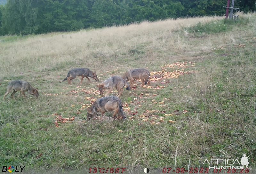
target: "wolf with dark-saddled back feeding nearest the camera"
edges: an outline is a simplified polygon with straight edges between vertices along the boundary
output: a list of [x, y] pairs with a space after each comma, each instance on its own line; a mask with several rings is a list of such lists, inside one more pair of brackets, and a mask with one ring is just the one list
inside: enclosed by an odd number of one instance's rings
[[97, 99], [91, 107], [87, 108], [87, 119], [90, 120], [93, 116], [97, 116], [99, 112], [101, 114], [105, 114], [105, 112], [111, 112], [114, 111], [113, 118], [119, 120], [120, 117], [123, 119], [126, 119], [126, 116], [124, 115], [122, 102], [121, 100], [116, 96], [108, 96], [108, 97], [102, 97], [100, 99]]

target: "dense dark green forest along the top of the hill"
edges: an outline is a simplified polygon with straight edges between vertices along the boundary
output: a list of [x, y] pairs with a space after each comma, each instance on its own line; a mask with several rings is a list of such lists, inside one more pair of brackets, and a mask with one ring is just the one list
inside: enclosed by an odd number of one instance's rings
[[[227, 0], [7, 0], [0, 5], [0, 34], [39, 34], [143, 20], [223, 15], [226, 5]], [[235, 7], [244, 12], [256, 11], [256, 0], [235, 0]]]

